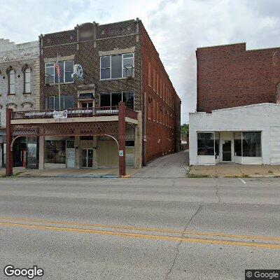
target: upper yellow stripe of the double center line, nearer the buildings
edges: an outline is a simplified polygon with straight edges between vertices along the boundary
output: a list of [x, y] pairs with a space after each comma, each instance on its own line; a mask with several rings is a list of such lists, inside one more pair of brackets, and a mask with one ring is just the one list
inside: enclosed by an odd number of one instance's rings
[[[55, 225], [76, 225], [80, 227], [92, 227], [92, 228], [112, 228], [116, 230], [137, 230], [144, 232], [162, 232], [162, 233], [174, 233], [182, 235], [183, 231], [180, 230], [165, 230], [159, 228], [137, 228], [126, 225], [101, 225], [101, 224], [90, 224], [90, 223], [74, 223], [66, 221], [48, 221], [41, 219], [29, 219], [29, 218], [11, 218], [11, 217], [0, 217], [0, 221], [10, 220], [18, 222], [33, 222], [33, 223], [49, 223]], [[229, 237], [235, 239], [256, 239], [256, 240], [266, 240], [266, 241], [280, 241], [280, 237], [262, 237], [262, 236], [253, 236], [253, 235], [228, 235], [224, 233], [214, 233], [214, 232], [191, 232], [186, 231], [185, 235], [198, 235], [198, 236], [208, 236], [208, 237]]]

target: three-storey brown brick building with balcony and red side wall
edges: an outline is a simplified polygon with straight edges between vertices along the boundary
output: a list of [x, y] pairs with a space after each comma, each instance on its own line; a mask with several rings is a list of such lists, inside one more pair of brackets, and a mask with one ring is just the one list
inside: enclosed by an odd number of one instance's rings
[[[49, 128], [49, 113], [46, 118], [40, 115], [40, 121], [36, 116], [41, 113], [13, 115], [15, 129], [24, 124], [29, 133], [28, 117], [41, 131], [37, 134], [39, 168], [118, 165], [122, 156], [118, 153], [121, 136], [116, 132], [120, 102], [126, 110], [127, 166], [141, 167], [148, 160], [179, 151], [181, 100], [141, 20], [85, 23], [41, 35], [39, 41], [41, 112], [68, 110], [63, 123], [52, 120]], [[83, 69], [83, 78], [73, 77], [77, 66]], [[82, 121], [83, 127], [77, 128]]]

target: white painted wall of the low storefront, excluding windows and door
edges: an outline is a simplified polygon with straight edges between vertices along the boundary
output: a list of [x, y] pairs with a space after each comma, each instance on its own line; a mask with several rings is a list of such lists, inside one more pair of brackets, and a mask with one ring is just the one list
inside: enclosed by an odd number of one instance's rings
[[[197, 160], [197, 132], [262, 132], [262, 158], [234, 157], [241, 164], [280, 164], [280, 104], [264, 103], [212, 113], [190, 113], [190, 165], [202, 164]], [[214, 158], [214, 157], [212, 157]], [[206, 164], [206, 163], [204, 163]], [[213, 164], [209, 160], [208, 164]]]

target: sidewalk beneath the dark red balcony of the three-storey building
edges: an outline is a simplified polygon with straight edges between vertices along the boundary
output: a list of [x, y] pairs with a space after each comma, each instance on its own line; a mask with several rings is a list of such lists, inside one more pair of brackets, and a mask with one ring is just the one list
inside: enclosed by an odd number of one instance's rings
[[[139, 169], [127, 168], [127, 175], [134, 175]], [[5, 176], [6, 170], [0, 169], [0, 178]], [[118, 168], [100, 168], [100, 169], [25, 169], [22, 167], [13, 168], [13, 176], [18, 177], [90, 177], [106, 178], [118, 177]]]

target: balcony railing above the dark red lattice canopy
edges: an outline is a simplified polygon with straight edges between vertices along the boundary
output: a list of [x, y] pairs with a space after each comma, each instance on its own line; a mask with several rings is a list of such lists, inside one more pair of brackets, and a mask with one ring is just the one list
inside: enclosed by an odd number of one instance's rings
[[[56, 110], [49, 109], [40, 111], [13, 111], [12, 120], [53, 118], [54, 111]], [[67, 109], [67, 118], [92, 116], [118, 116], [118, 106]], [[137, 120], [137, 112], [128, 108], [125, 108], [125, 116]]]

